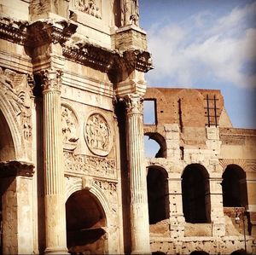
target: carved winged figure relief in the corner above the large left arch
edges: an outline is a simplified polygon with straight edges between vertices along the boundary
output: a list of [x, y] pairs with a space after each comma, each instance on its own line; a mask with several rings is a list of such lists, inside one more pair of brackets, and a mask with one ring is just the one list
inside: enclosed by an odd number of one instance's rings
[[31, 99], [32, 88], [27, 83], [26, 74], [16, 73], [0, 67], [1, 90], [8, 97], [15, 112], [15, 118], [22, 127], [23, 136], [29, 140], [32, 136]]

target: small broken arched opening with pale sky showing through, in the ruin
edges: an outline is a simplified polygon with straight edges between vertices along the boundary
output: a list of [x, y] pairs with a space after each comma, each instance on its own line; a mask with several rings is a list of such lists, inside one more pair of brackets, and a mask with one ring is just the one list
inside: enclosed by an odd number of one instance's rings
[[166, 158], [166, 140], [158, 133], [145, 133], [144, 148], [146, 158]]

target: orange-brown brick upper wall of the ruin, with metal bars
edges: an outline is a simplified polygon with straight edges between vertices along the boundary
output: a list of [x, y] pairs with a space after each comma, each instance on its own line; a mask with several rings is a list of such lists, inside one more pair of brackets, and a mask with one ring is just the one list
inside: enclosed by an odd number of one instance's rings
[[[224, 111], [220, 90], [148, 88], [145, 100], [154, 100], [156, 123], [183, 127], [219, 125]], [[228, 121], [225, 121], [226, 123]]]

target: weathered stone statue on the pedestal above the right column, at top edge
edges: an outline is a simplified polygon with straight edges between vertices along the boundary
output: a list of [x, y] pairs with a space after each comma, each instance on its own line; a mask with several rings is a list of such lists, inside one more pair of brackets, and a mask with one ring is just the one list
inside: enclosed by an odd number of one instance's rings
[[121, 0], [121, 25], [139, 26], [138, 0]]

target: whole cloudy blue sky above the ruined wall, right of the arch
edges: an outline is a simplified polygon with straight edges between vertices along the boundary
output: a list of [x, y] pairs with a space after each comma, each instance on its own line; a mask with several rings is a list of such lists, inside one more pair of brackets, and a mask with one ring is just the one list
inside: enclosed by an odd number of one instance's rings
[[220, 89], [234, 127], [256, 128], [256, 0], [140, 0], [150, 87]]

